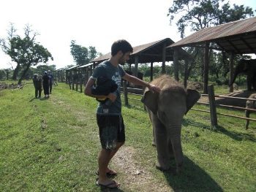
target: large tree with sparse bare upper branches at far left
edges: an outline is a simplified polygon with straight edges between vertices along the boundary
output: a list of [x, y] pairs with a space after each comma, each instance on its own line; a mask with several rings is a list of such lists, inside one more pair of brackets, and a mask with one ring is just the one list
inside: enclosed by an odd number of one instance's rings
[[[49, 58], [53, 60], [50, 52], [35, 42], [37, 33], [33, 33], [31, 27], [26, 25], [24, 28], [25, 37], [20, 37], [15, 34], [16, 29], [11, 24], [10, 31], [8, 31], [7, 41], [1, 39], [1, 47], [4, 53], [10, 56], [12, 61], [17, 64], [13, 79], [17, 79], [17, 75], [20, 69], [23, 69], [18, 84], [21, 83], [26, 73], [29, 71], [30, 66], [36, 66], [39, 63], [48, 62]], [[33, 33], [33, 34], [32, 34]], [[15, 78], [16, 77], [16, 78]]]

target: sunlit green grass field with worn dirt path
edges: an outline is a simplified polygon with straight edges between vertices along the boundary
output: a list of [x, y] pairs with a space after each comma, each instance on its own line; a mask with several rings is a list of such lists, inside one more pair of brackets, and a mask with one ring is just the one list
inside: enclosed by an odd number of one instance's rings
[[[0, 191], [101, 191], [94, 174], [96, 107], [95, 99], [64, 83], [50, 99], [34, 99], [31, 82], [0, 91]], [[245, 130], [244, 120], [219, 116], [219, 126], [211, 128], [208, 113], [189, 111], [182, 124], [184, 172], [174, 176], [154, 168], [143, 106], [133, 101], [123, 116], [127, 142], [110, 164], [121, 183], [116, 191], [256, 191], [256, 123]]]

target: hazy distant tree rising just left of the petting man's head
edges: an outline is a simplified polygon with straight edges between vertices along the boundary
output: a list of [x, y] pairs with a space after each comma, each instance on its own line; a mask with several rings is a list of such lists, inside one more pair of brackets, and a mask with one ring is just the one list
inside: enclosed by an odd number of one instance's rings
[[70, 49], [70, 53], [77, 65], [89, 64], [91, 60], [97, 58], [98, 55], [101, 55], [101, 53], [97, 53], [95, 47], [90, 46], [89, 48], [86, 48], [81, 45], [76, 45], [75, 40], [71, 41]]

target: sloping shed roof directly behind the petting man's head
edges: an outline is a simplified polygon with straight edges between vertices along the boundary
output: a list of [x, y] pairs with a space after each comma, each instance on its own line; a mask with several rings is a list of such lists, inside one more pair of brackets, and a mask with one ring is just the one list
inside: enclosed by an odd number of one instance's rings
[[[150, 42], [144, 45], [138, 45], [136, 47], [133, 47], [133, 53], [130, 55], [129, 64], [135, 63], [135, 56], [139, 56], [139, 63], [145, 64], [150, 62], [162, 62], [162, 50], [167, 47], [168, 45], [173, 44], [173, 40], [170, 38], [161, 39], [156, 42]], [[183, 52], [182, 52], [183, 51]], [[173, 53], [172, 49], [167, 50], [165, 55], [165, 61], [173, 61]], [[181, 56], [184, 56], [184, 54], [187, 54], [184, 50], [181, 50]], [[188, 54], [187, 54], [188, 56]], [[108, 60], [111, 57], [111, 53], [107, 53], [105, 55], [102, 55], [98, 58], [95, 58], [91, 62], [93, 63], [99, 63], [105, 60]]]

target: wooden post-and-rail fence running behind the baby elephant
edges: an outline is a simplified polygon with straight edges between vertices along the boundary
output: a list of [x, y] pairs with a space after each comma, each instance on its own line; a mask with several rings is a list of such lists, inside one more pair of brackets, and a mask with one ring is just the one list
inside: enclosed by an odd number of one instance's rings
[[[124, 81], [123, 87], [121, 88], [121, 92], [124, 94], [124, 104], [127, 106], [129, 105], [129, 99], [135, 100], [135, 101], [140, 101], [140, 99], [134, 99], [134, 98], [129, 98], [129, 95], [136, 95], [136, 96], [143, 96], [143, 89], [138, 89], [138, 88], [127, 88], [127, 83]], [[197, 101], [197, 104], [203, 104], [206, 106], [209, 106], [209, 110], [199, 110], [192, 108], [191, 110], [195, 111], [200, 111], [200, 112], [208, 112], [210, 113], [211, 117], [211, 126], [217, 126], [218, 125], [218, 120], [217, 120], [217, 115], [224, 115], [232, 118], [240, 118], [244, 120], [252, 120], [256, 121], [256, 119], [253, 118], [245, 118], [237, 115], [230, 115], [230, 114], [225, 114], [222, 112], [217, 112], [217, 107], [224, 107], [227, 109], [234, 109], [234, 110], [248, 110], [251, 112], [256, 112], [254, 109], [246, 109], [245, 107], [236, 107], [236, 106], [230, 106], [230, 105], [225, 105], [225, 104], [216, 104], [215, 98], [225, 98], [225, 99], [241, 99], [241, 100], [251, 100], [251, 101], [256, 101], [256, 99], [247, 99], [247, 98], [241, 98], [241, 97], [232, 97], [232, 96], [217, 96], [214, 95], [214, 85], [208, 85], [208, 94], [201, 94], [201, 96], [206, 96], [208, 97], [208, 102], [200, 102]]]

